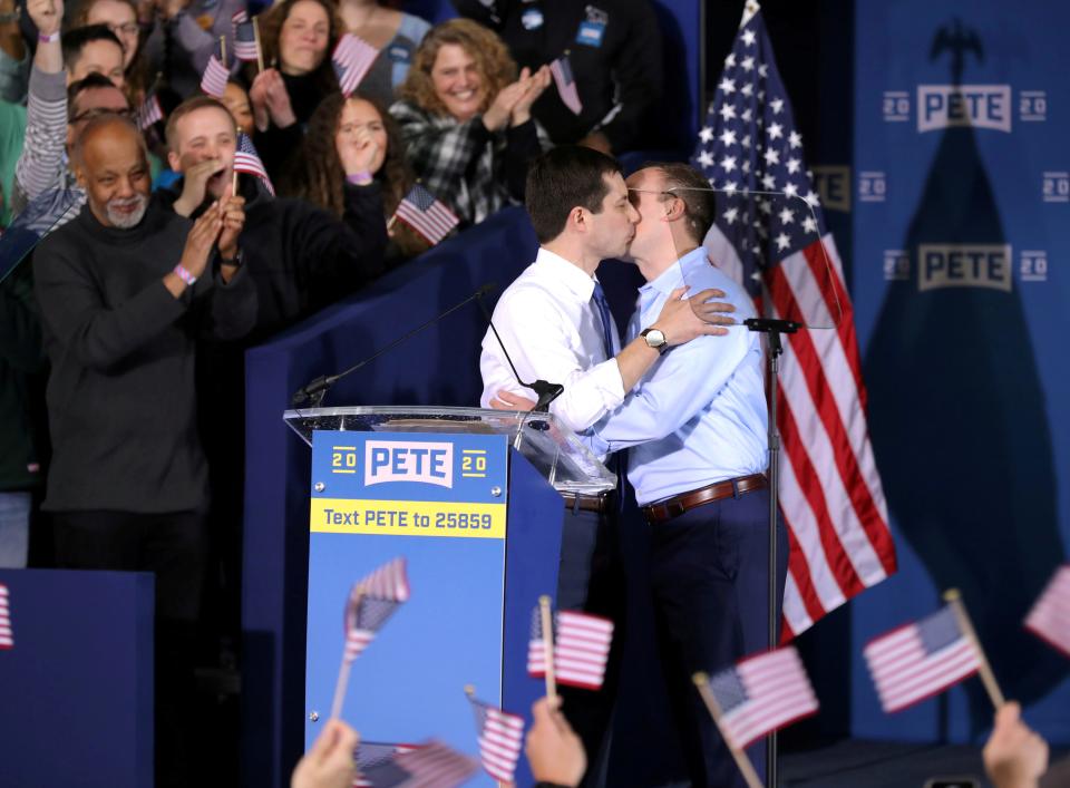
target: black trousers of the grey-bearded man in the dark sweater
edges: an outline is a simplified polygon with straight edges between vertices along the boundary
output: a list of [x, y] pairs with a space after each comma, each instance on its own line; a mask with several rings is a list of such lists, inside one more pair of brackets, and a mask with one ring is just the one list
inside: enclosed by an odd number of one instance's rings
[[52, 514], [56, 565], [156, 575], [156, 785], [193, 785], [196, 620], [204, 572], [204, 517], [196, 512]]

